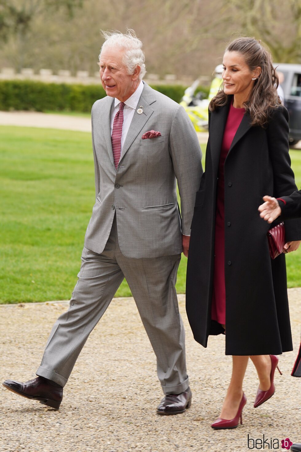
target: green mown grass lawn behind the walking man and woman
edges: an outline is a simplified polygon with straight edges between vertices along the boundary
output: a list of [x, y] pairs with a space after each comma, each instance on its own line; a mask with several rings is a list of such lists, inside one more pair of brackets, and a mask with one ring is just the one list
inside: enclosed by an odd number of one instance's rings
[[[301, 152], [291, 156], [300, 187]], [[91, 136], [0, 127], [0, 161], [0, 302], [69, 299], [95, 197]], [[301, 253], [287, 264], [289, 287], [301, 286]], [[182, 257], [180, 293], [185, 272]], [[116, 295], [130, 296], [125, 281]]]

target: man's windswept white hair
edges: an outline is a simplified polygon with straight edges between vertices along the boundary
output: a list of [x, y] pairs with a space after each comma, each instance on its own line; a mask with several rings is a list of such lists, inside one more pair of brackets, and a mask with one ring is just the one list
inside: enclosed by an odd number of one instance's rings
[[143, 43], [139, 38], [137, 38], [134, 30], [128, 29], [125, 34], [116, 31], [102, 31], [102, 36], [105, 38], [105, 42], [102, 44], [102, 48], [100, 49], [99, 58], [102, 51], [111, 47], [117, 47], [121, 50], [125, 50], [122, 62], [125, 65], [128, 74], [134, 74], [136, 67], [140, 66], [141, 71], [139, 79], [142, 80], [146, 73], [144, 64], [145, 57], [144, 52], [142, 51]]

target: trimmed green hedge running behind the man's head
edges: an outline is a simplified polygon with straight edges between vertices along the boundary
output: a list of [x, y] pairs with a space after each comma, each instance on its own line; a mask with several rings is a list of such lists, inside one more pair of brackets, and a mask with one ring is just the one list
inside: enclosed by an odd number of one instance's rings
[[[181, 85], [153, 85], [152, 88], [175, 102], [180, 102], [185, 90]], [[206, 92], [207, 89], [202, 91]], [[90, 112], [94, 102], [105, 95], [101, 85], [2, 80], [0, 81], [0, 110]]]

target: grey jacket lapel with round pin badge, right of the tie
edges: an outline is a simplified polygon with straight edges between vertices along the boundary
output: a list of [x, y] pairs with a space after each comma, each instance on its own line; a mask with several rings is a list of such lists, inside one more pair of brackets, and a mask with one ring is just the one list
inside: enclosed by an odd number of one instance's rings
[[148, 118], [150, 118], [150, 116], [152, 115], [153, 108], [150, 106], [150, 104], [153, 104], [153, 102], [155, 101], [156, 99], [153, 96], [152, 89], [146, 83], [144, 83], [144, 89], [137, 106], [137, 108], [139, 108], [139, 106], [142, 105], [143, 113], [137, 113], [136, 108], [133, 119], [130, 123], [129, 131], [125, 138], [125, 143], [122, 147], [120, 160], [123, 159], [125, 153], [129, 150], [134, 139], [137, 137], [142, 127], [144, 127], [144, 124], [148, 121]]

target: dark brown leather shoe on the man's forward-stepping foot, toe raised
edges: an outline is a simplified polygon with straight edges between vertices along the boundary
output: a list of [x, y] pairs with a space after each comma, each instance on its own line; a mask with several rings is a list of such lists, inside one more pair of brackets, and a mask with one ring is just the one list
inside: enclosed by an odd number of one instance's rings
[[63, 400], [62, 386], [43, 377], [37, 377], [25, 383], [5, 380], [2, 384], [9, 391], [27, 397], [28, 399], [39, 400], [43, 405], [51, 406], [52, 408], [56, 408], [56, 410], [60, 408], [60, 402]]

